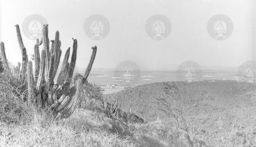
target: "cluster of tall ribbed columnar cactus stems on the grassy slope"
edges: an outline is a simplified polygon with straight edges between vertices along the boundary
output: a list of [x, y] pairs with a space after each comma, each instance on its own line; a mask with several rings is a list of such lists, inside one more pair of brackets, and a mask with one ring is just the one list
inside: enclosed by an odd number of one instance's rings
[[[48, 25], [43, 27], [42, 39], [36, 40], [34, 47], [35, 72], [33, 64], [28, 60], [28, 54], [22, 41], [19, 25], [15, 25], [22, 62], [18, 63], [13, 70], [10, 69], [6, 59], [4, 43], [1, 42], [0, 59], [3, 63], [4, 72], [10, 76], [10, 84], [15, 88], [17, 94], [22, 95], [22, 101], [33, 103], [39, 108], [51, 109], [56, 118], [67, 118], [76, 109], [81, 84], [86, 82], [92, 69], [92, 64], [97, 52], [97, 46], [93, 46], [92, 57], [81, 80], [72, 80], [76, 65], [77, 40], [73, 39], [72, 56], [70, 48], [65, 53], [65, 57], [60, 66], [60, 74], [57, 74], [61, 58], [60, 32], [56, 31], [55, 39], [50, 41], [48, 38]], [[42, 52], [40, 53], [40, 46]], [[55, 81], [54, 81], [55, 80]], [[24, 96], [23, 94], [26, 94]]]

